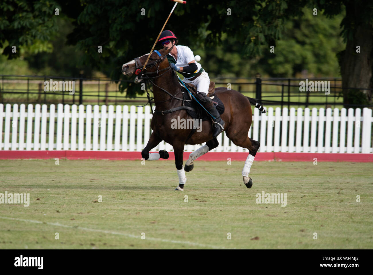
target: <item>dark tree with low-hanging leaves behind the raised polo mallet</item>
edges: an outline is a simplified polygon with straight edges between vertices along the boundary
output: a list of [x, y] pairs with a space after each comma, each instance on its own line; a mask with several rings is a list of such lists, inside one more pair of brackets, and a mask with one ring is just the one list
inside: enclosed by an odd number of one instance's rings
[[[284, 22], [301, 14], [307, 1], [208, 1], [197, 0], [176, 7], [166, 29], [178, 34], [190, 46], [215, 48], [222, 45], [222, 36], [239, 41], [238, 53], [255, 56], [261, 46], [274, 44], [280, 38]], [[62, 9], [69, 17], [75, 8]], [[78, 8], [79, 3], [76, 4]], [[99, 1], [84, 3], [83, 11], [74, 22], [75, 29], [68, 42], [84, 50], [82, 59], [118, 79], [121, 65], [148, 52], [169, 14], [169, 1]], [[201, 35], [204, 34], [204, 35]], [[194, 45], [193, 45], [194, 44]], [[97, 47], [103, 52], [98, 53]], [[123, 76], [122, 76], [123, 77]], [[134, 95], [132, 83], [121, 83], [128, 95]]]

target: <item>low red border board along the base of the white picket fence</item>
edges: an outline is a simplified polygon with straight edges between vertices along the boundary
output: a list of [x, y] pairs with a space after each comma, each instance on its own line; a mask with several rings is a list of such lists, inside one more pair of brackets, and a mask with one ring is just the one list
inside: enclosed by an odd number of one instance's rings
[[[170, 152], [168, 160], [175, 160], [173, 152]], [[184, 160], [187, 160], [190, 152], [184, 152]], [[198, 160], [216, 161], [231, 160], [245, 161], [247, 152], [209, 152]], [[0, 159], [50, 159], [67, 158], [69, 160], [96, 159], [96, 160], [140, 160], [141, 152], [122, 151], [0, 151]], [[373, 162], [373, 154], [347, 154], [347, 153], [289, 153], [289, 152], [258, 152], [256, 161], [349, 161], [349, 162]], [[161, 159], [162, 160], [162, 159]]]

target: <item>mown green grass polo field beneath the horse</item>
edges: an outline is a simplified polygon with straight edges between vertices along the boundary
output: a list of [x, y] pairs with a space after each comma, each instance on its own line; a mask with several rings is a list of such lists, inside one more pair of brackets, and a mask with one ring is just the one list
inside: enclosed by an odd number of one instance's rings
[[254, 162], [251, 189], [243, 164], [197, 160], [181, 192], [173, 161], [0, 160], [0, 193], [30, 194], [0, 204], [0, 248], [373, 248], [371, 163]]

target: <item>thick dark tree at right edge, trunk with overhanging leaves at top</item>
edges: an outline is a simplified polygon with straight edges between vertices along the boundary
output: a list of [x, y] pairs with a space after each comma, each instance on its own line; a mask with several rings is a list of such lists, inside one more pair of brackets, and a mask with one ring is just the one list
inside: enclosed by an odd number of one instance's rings
[[341, 22], [346, 48], [339, 53], [344, 104], [372, 104], [373, 89], [373, 2], [364, 0], [318, 0], [317, 6], [328, 16], [335, 16], [345, 7]]

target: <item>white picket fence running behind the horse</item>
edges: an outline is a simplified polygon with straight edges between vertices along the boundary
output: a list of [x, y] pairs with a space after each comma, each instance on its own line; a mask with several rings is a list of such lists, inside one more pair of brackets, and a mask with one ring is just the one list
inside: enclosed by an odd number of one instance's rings
[[[141, 151], [152, 130], [149, 106], [0, 104], [0, 150]], [[34, 109], [35, 108], [35, 109]], [[260, 152], [372, 153], [372, 109], [254, 108], [248, 136]], [[215, 152], [247, 152], [225, 132]], [[204, 143], [203, 143], [204, 144]], [[194, 151], [201, 145], [185, 145]], [[172, 151], [161, 142], [153, 151]], [[0, 152], [1, 154], [1, 152]]]

